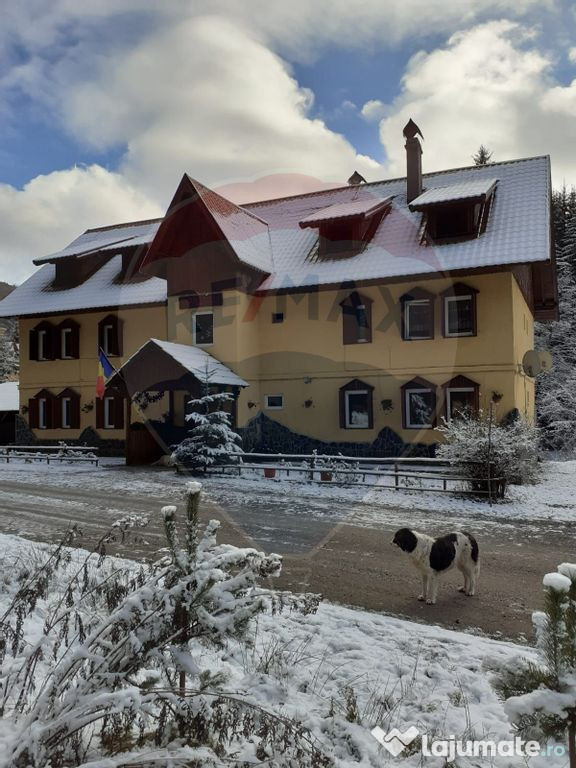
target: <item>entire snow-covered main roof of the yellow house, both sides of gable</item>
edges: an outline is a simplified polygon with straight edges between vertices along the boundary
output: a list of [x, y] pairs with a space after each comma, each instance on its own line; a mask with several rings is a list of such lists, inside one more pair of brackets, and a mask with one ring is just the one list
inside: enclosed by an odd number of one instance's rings
[[[411, 210], [408, 205], [406, 179], [238, 206], [199, 182], [185, 178], [239, 260], [265, 273], [259, 286], [261, 291], [339, 285], [347, 281], [384, 281], [550, 259], [550, 159], [547, 156], [425, 174], [425, 191], [416, 199], [420, 205], [422, 199], [426, 205], [486, 195], [497, 181], [485, 231], [470, 240], [438, 245], [421, 241], [422, 213]], [[381, 205], [389, 198], [386, 204], [390, 212], [360, 253], [345, 258], [313, 257], [318, 231], [301, 227], [301, 222], [358, 215], [360, 211], [364, 215], [371, 210], [366, 206]], [[412, 206], [416, 201], [412, 201]], [[137, 222], [89, 231], [49, 258], [145, 245], [154, 239], [159, 225], [158, 221]], [[39, 260], [42, 261], [45, 259]], [[163, 280], [116, 283], [119, 271], [119, 257], [114, 257], [84, 284], [56, 291], [50, 289], [54, 265], [46, 264], [0, 302], [0, 317], [165, 301]]]

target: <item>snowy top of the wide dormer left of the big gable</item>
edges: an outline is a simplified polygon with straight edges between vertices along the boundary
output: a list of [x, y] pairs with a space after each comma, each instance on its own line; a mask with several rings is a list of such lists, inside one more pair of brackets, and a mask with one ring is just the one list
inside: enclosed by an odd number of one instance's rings
[[117, 227], [88, 229], [61, 251], [43, 256], [41, 259], [34, 259], [34, 264], [59, 261], [67, 256], [88, 256], [99, 251], [145, 245], [152, 240], [161, 221], [162, 219], [136, 221], [133, 224], [119, 224]]

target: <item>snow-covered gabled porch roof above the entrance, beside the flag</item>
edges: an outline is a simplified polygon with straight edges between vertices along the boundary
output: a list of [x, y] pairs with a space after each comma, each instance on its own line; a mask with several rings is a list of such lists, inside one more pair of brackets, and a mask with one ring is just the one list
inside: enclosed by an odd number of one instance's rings
[[179, 389], [193, 376], [210, 384], [247, 387], [248, 383], [205, 349], [171, 341], [149, 339], [110, 378], [109, 385], [124, 383], [128, 393]]

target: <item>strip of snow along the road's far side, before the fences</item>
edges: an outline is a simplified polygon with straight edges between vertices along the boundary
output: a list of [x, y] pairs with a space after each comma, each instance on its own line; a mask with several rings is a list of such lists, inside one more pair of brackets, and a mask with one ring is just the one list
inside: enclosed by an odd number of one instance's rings
[[[336, 522], [354, 514], [355, 525], [378, 527], [386, 521], [386, 508], [412, 510], [423, 520], [429, 515], [500, 522], [573, 522], [576, 520], [576, 461], [543, 462], [543, 479], [538, 485], [511, 486], [505, 501], [479, 501], [449, 493], [394, 490], [389, 487], [340, 486], [332, 483], [306, 482], [281, 478], [265, 479], [261, 470], [242, 478], [213, 475], [203, 479], [206, 498], [223, 507], [234, 507], [251, 497], [264, 497], [290, 503], [311, 514], [324, 516], [329, 510]], [[0, 464], [0, 482], [34, 483], [47, 486], [84, 489], [103, 487], [111, 492], [126, 492], [170, 498], [181, 493], [184, 478], [173, 470], [158, 467], [123, 466], [122, 459], [103, 459], [100, 467], [86, 464], [46, 465], [12, 462]], [[389, 483], [390, 479], [379, 482]], [[411, 517], [412, 524], [414, 519]]]

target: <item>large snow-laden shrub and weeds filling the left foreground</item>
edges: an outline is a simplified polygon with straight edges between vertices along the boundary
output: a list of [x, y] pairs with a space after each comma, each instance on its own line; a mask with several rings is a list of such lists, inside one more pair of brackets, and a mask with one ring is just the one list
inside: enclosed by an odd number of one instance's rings
[[[199, 498], [200, 485], [189, 484], [182, 531], [176, 508], [164, 507], [168, 555], [147, 570], [115, 561], [101, 570], [105, 537], [97, 562], [80, 562], [56, 598], [61, 564], [70, 564], [64, 546], [24, 575], [0, 619], [0, 716], [12, 725], [6, 765], [209, 768], [275, 755], [286, 765], [329, 764], [301, 723], [227, 690], [223, 671], [202, 668], [208, 647], [242, 637], [283, 598], [257, 587], [279, 573], [280, 557], [218, 544], [216, 521], [198, 526]], [[133, 524], [118, 525], [126, 532]], [[40, 600], [42, 632], [30, 625]]]

